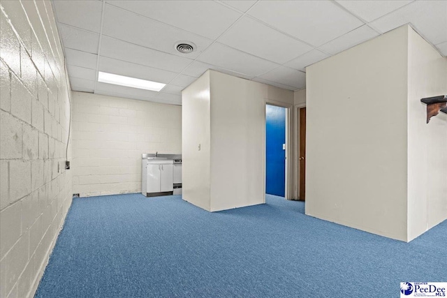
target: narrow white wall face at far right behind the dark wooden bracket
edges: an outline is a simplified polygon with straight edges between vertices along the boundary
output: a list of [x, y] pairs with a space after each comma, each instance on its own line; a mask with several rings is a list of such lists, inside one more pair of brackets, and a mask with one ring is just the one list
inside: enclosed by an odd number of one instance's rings
[[409, 29], [408, 239], [447, 219], [447, 114], [425, 123], [420, 98], [447, 94], [447, 58]]

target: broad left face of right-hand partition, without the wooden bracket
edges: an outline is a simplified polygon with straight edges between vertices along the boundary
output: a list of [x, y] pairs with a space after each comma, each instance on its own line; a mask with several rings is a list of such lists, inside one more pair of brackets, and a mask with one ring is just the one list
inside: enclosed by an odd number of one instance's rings
[[307, 67], [306, 214], [407, 239], [408, 28]]

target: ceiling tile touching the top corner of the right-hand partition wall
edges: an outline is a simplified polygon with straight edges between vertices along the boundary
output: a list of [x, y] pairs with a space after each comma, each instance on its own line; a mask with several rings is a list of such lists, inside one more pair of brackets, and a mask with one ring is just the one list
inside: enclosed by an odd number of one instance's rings
[[382, 33], [411, 23], [433, 45], [447, 41], [447, 1], [414, 1], [370, 24]]

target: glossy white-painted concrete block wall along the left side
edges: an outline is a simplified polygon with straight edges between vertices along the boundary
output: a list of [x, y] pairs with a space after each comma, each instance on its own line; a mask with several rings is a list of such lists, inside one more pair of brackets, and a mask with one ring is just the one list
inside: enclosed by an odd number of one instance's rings
[[71, 205], [70, 104], [50, 1], [0, 10], [0, 297], [33, 297]]

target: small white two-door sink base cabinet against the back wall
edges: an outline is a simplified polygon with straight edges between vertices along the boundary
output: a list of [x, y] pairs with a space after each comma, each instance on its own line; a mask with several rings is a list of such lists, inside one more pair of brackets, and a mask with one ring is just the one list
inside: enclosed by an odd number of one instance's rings
[[143, 160], [141, 193], [150, 197], [172, 191], [173, 160]]

